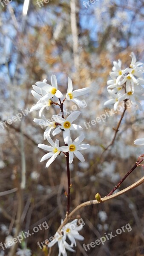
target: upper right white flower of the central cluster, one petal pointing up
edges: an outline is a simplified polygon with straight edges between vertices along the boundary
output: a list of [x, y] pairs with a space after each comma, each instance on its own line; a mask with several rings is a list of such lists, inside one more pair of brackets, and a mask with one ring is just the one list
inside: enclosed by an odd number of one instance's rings
[[71, 100], [75, 104], [77, 104], [79, 107], [83, 108], [83, 102], [79, 99], [77, 99], [78, 96], [82, 96], [86, 93], [89, 93], [89, 88], [85, 87], [83, 89], [73, 90], [72, 87], [72, 80], [68, 77], [68, 88], [66, 93], [66, 99], [69, 101]]

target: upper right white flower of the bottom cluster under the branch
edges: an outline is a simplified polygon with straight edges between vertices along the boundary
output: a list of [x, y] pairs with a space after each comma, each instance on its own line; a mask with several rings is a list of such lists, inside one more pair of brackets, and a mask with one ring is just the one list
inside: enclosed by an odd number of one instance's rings
[[66, 240], [66, 236], [67, 236], [68, 239], [71, 241], [70, 246], [73, 246], [73, 244], [75, 244], [75, 246], [76, 246], [75, 239], [78, 239], [78, 240], [81, 240], [81, 241], [84, 240], [84, 236], [81, 236], [78, 233], [78, 231], [82, 230], [83, 225], [78, 226], [77, 221], [78, 221], [78, 219], [75, 219], [75, 220], [67, 223], [62, 229], [63, 239]]

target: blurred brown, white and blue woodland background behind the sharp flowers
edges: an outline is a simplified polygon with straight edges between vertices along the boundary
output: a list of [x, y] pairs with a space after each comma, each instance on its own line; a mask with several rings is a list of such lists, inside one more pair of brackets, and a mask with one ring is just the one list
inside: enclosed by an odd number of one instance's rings
[[[43, 152], [37, 148], [43, 143], [43, 129], [32, 120], [38, 118], [37, 111], [23, 115], [35, 104], [31, 95], [32, 84], [44, 78], [50, 83], [55, 74], [60, 90], [67, 91], [67, 76], [71, 77], [75, 89], [89, 87], [91, 94], [87, 106], [81, 112], [79, 124], [101, 116], [107, 99], [107, 80], [112, 61], [120, 58], [130, 64], [130, 52], [139, 61], [144, 61], [144, 1], [143, 0], [99, 0], [89, 7], [83, 0], [77, 1], [77, 34], [73, 33], [70, 0], [52, 0], [38, 6], [30, 1], [29, 12], [22, 15], [23, 1], [12, 1], [0, 6], [0, 190], [17, 187], [21, 172], [26, 165], [26, 187], [23, 189], [22, 222], [20, 231], [31, 230], [37, 224], [47, 221], [48, 230], [41, 230], [17, 244], [18, 248], [30, 248], [32, 255], [44, 255], [37, 247], [37, 241], [44, 241], [55, 234], [61, 218], [66, 212], [67, 190], [65, 158], [56, 160], [48, 169], [40, 163]], [[75, 46], [75, 36], [78, 44]], [[22, 112], [24, 111], [24, 112]], [[49, 119], [57, 113], [55, 108], [45, 112]], [[8, 119], [19, 114], [20, 121], [8, 125]], [[20, 115], [21, 114], [21, 115]], [[137, 108], [128, 109], [121, 124], [117, 141], [111, 150], [101, 156], [113, 137], [113, 129], [121, 113], [107, 117], [104, 122], [84, 128], [87, 143], [92, 147], [85, 153], [86, 162], [77, 159], [71, 165], [71, 209], [81, 202], [95, 199], [99, 192], [105, 196], [112, 187], [133, 166], [142, 149], [133, 145], [135, 138], [144, 133], [144, 113]], [[58, 137], [59, 138], [59, 137]], [[73, 138], [74, 139], [74, 138]], [[142, 168], [123, 183], [121, 189], [141, 177]], [[97, 246], [88, 252], [78, 244], [75, 255], [144, 255], [144, 206], [143, 186], [128, 192], [104, 205], [87, 207], [81, 211], [85, 226], [81, 235], [84, 243], [95, 241], [104, 233], [131, 224], [130, 233], [122, 233], [104, 246]], [[17, 192], [0, 198], [0, 241], [6, 236], [15, 237], [17, 207], [20, 201]], [[98, 212], [107, 213], [101, 221]], [[11, 216], [8, 218], [6, 212]], [[6, 230], [3, 232], [3, 224]], [[11, 249], [0, 248], [1, 255], [8, 255]], [[57, 255], [57, 247], [52, 255]], [[12, 254], [9, 254], [9, 256]], [[70, 255], [70, 254], [69, 254]]]

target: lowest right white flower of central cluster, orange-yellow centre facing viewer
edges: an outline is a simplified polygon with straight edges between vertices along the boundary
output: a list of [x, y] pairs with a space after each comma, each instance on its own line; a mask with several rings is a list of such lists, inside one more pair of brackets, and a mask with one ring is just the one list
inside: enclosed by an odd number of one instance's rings
[[81, 144], [80, 143], [84, 140], [86, 136], [84, 134], [80, 135], [78, 138], [76, 138], [73, 142], [72, 139], [69, 138], [69, 163], [72, 163], [74, 154], [78, 159], [84, 163], [85, 159], [83, 155], [78, 150], [84, 150], [87, 148], [90, 148], [89, 144]]

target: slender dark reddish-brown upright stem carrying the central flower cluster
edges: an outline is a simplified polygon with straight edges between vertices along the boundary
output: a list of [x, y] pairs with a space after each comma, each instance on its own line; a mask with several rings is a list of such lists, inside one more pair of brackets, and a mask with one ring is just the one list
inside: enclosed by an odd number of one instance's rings
[[[64, 118], [64, 113], [63, 113], [63, 102], [60, 101], [60, 110], [61, 110], [61, 114], [62, 117]], [[68, 146], [67, 144], [65, 144], [66, 146]], [[69, 209], [70, 209], [70, 187], [71, 187], [71, 183], [70, 183], [70, 169], [69, 169], [69, 152], [66, 152], [66, 169], [67, 169], [67, 210], [66, 210], [66, 216], [69, 214]]]

